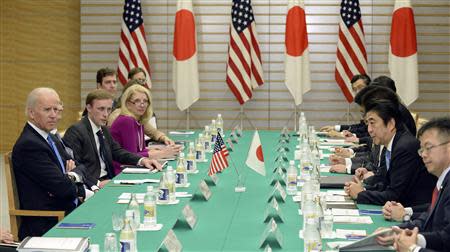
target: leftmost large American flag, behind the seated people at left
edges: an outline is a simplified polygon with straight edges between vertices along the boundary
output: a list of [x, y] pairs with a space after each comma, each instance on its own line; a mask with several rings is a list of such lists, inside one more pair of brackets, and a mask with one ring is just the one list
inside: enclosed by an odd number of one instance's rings
[[140, 0], [125, 0], [122, 32], [120, 33], [119, 66], [117, 76], [122, 85], [128, 80], [128, 71], [135, 67], [144, 69], [147, 86], [151, 87], [147, 41]]

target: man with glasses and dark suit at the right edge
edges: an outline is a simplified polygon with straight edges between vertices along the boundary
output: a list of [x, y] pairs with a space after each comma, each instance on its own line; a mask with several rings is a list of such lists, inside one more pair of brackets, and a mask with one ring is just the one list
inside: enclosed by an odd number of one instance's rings
[[[419, 154], [429, 173], [438, 178], [430, 208], [414, 221], [402, 223], [400, 228], [418, 228], [417, 245], [438, 251], [450, 251], [450, 118], [433, 119], [418, 133]], [[400, 229], [394, 228], [399, 233]], [[389, 244], [393, 237], [379, 237]]]

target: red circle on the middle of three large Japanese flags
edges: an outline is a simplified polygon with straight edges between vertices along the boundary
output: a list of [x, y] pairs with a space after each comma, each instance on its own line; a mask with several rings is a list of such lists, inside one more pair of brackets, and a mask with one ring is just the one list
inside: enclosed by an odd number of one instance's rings
[[301, 56], [308, 47], [305, 11], [299, 6], [292, 7], [286, 17], [286, 53]]

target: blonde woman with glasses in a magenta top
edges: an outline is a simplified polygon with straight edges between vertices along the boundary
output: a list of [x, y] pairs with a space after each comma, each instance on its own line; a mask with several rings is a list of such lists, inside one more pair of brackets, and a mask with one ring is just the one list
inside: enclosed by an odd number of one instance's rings
[[[123, 93], [120, 114], [111, 124], [111, 135], [122, 148], [153, 159], [172, 158], [179, 148], [173, 145], [160, 149], [147, 149], [144, 140], [144, 124], [152, 116], [150, 91], [141, 85], [131, 85]], [[120, 164], [114, 163], [114, 172], [121, 171]]]

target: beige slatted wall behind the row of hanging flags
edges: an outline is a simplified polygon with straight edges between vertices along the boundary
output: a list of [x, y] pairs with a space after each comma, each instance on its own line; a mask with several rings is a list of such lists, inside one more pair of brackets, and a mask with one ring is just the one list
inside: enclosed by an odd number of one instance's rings
[[[176, 0], [142, 0], [158, 127], [183, 128], [172, 91], [172, 40]], [[191, 108], [192, 125], [205, 125], [221, 111], [225, 128], [239, 104], [225, 83], [231, 0], [193, 0], [197, 25], [200, 100]], [[284, 84], [284, 29], [287, 0], [252, 0], [261, 45], [265, 84], [245, 111], [259, 129], [293, 128], [293, 99]], [[318, 126], [343, 122], [347, 103], [334, 80], [340, 0], [305, 0], [312, 90], [300, 108]], [[369, 74], [389, 75], [389, 34], [394, 0], [360, 0]], [[411, 0], [419, 62], [419, 99], [413, 111], [430, 118], [450, 114], [450, 2]], [[95, 88], [100, 67], [116, 68], [123, 3], [81, 1], [81, 96]], [[358, 110], [351, 106], [354, 118]], [[291, 120], [289, 121], [289, 119]], [[249, 125], [245, 125], [249, 128]]]

